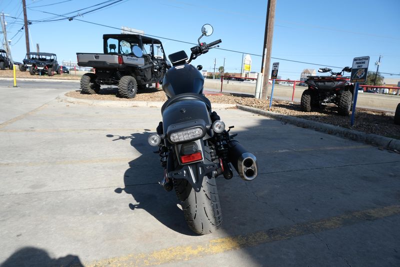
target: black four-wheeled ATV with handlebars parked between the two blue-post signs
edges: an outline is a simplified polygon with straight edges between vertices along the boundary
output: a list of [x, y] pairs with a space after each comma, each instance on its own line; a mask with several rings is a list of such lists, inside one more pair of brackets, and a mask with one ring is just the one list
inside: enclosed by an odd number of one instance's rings
[[331, 76], [307, 76], [305, 83], [308, 89], [301, 95], [301, 110], [309, 112], [312, 107], [333, 103], [338, 107], [339, 115], [348, 115], [354, 85], [350, 83], [350, 77], [343, 77], [343, 73], [351, 72], [351, 68], [345, 67], [341, 72], [332, 72], [329, 68], [323, 68], [318, 72], [330, 72]]

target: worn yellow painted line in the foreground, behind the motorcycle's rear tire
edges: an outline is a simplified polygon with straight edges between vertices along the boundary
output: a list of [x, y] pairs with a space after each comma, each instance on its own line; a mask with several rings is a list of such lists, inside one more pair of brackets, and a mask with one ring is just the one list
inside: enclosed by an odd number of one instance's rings
[[216, 238], [203, 244], [171, 246], [160, 250], [154, 250], [149, 253], [129, 254], [120, 257], [106, 258], [95, 262], [89, 262], [84, 265], [88, 267], [149, 266], [187, 261], [197, 257], [214, 255], [244, 247], [285, 240], [296, 236], [337, 229], [343, 226], [354, 225], [364, 221], [371, 221], [399, 214], [400, 205], [354, 211], [321, 220], [287, 225], [246, 235]]

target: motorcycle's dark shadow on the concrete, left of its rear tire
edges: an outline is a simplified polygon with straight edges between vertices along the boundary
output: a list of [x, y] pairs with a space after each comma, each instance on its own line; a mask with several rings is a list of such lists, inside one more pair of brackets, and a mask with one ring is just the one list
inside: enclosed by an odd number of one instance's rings
[[[107, 137], [116, 137], [113, 141], [130, 139], [130, 145], [141, 154], [129, 162], [129, 168], [123, 175], [124, 187], [114, 190], [115, 193], [125, 192], [132, 196], [133, 201], [128, 203], [131, 212], [143, 209], [171, 230], [185, 235], [195, 235], [184, 221], [175, 193], [165, 192], [158, 184], [163, 169], [159, 165], [158, 155], [153, 153], [156, 148], [150, 147], [147, 143], [148, 133], [133, 133], [130, 136], [107, 135]], [[143, 225], [146, 223], [143, 222]]]

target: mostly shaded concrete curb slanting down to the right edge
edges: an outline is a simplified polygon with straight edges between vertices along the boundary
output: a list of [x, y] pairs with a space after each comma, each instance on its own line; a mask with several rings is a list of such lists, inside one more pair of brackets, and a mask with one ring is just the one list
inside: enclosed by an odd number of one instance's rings
[[309, 121], [301, 118], [296, 118], [288, 115], [282, 115], [270, 111], [250, 108], [242, 105], [236, 105], [240, 110], [255, 113], [258, 115], [270, 117], [272, 119], [287, 122], [299, 127], [314, 129], [319, 132], [324, 132], [331, 135], [340, 136], [354, 141], [365, 142], [367, 144], [377, 145], [389, 150], [400, 151], [400, 140], [389, 137], [384, 137], [376, 134], [368, 134], [352, 129], [342, 128], [330, 124], [325, 124], [316, 121]]

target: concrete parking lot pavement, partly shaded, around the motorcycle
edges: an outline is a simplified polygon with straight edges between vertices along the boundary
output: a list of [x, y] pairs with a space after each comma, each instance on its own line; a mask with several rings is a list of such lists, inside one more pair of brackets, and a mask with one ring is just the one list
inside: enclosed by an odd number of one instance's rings
[[68, 85], [50, 85], [0, 84], [1, 266], [400, 265], [398, 154], [217, 110], [259, 176], [218, 178], [222, 227], [196, 236], [157, 184], [159, 109], [58, 102]]

